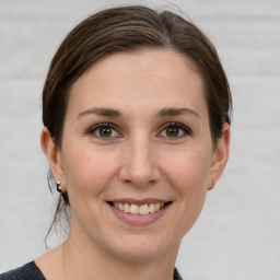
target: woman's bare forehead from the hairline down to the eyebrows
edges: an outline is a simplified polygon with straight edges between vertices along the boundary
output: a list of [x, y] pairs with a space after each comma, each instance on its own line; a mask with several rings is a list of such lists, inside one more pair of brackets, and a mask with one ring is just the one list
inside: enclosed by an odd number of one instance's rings
[[[203, 82], [186, 56], [168, 50], [115, 52], [96, 61], [70, 91], [68, 108], [74, 105], [197, 106], [206, 103]], [[203, 104], [206, 105], [206, 104]]]

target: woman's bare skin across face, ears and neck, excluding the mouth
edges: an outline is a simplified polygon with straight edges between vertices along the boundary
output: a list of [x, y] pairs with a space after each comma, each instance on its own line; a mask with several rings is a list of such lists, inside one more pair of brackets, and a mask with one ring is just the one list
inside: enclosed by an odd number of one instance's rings
[[[108, 137], [101, 136], [96, 125], [108, 122], [114, 128], [106, 125]], [[61, 147], [42, 132], [72, 217], [67, 241], [36, 264], [50, 280], [173, 279], [182, 237], [225, 167], [229, 142], [224, 124], [213, 145], [203, 82], [186, 57], [164, 50], [103, 57], [70, 91]], [[131, 225], [108, 205], [125, 198], [172, 203], [159, 220]]]

